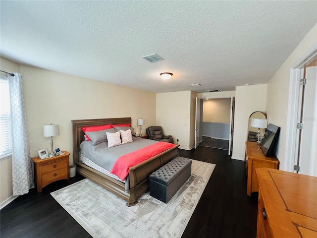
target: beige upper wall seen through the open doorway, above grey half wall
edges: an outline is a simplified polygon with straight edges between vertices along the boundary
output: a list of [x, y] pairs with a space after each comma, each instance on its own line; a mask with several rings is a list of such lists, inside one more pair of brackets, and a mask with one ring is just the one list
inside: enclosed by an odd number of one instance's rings
[[204, 100], [203, 121], [230, 122], [230, 98]]

